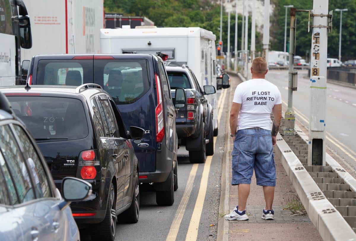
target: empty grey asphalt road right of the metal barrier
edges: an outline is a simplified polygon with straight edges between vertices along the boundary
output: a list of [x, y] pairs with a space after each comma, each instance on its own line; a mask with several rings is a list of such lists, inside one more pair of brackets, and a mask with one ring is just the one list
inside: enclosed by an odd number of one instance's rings
[[[267, 77], [281, 91], [283, 111], [288, 105], [288, 70], [269, 70]], [[327, 83], [326, 89], [326, 147], [354, 178], [356, 177], [356, 89]], [[298, 70], [298, 89], [293, 91], [293, 110], [297, 123], [309, 129], [310, 78], [307, 70]], [[305, 133], [308, 133], [305, 132]]]

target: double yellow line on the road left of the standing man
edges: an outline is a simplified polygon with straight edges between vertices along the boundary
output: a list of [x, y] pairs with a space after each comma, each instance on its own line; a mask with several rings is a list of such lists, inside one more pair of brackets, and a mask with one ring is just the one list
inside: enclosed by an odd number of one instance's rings
[[[221, 115], [223, 114], [223, 108], [221, 107], [223, 107], [225, 104], [226, 92], [227, 92], [226, 89], [223, 89], [218, 101], [219, 122], [221, 119]], [[214, 137], [214, 150], [215, 150], [215, 145], [216, 145], [216, 137]], [[197, 201], [195, 202], [192, 218], [190, 219], [187, 236], [185, 237], [185, 240], [197, 240], [198, 237], [200, 217], [203, 211], [206, 190], [208, 188], [208, 178], [209, 178], [212, 158], [213, 156], [206, 157], [206, 161], [204, 163], [203, 173], [201, 174], [199, 193], [198, 193]], [[185, 185], [183, 197], [180, 200], [178, 209], [176, 211], [176, 215], [174, 216], [174, 219], [172, 221], [171, 228], [169, 229], [166, 241], [174, 241], [177, 239], [180, 223], [182, 222], [185, 209], [187, 208], [190, 193], [192, 193], [193, 182], [195, 179], [195, 175], [197, 174], [198, 165], [199, 164], [193, 164], [192, 169], [189, 173], [189, 178], [187, 184]]]

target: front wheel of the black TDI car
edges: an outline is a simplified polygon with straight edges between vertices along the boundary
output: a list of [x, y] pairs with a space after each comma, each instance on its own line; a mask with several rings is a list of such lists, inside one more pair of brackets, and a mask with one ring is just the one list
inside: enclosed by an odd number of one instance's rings
[[140, 213], [140, 182], [137, 170], [134, 178], [135, 187], [133, 188], [130, 208], [120, 214], [120, 219], [129, 224], [135, 224]]

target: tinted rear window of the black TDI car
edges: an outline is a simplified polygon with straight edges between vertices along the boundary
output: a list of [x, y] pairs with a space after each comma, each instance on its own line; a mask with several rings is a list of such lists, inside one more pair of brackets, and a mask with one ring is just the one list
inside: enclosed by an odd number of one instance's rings
[[16, 114], [37, 141], [82, 139], [88, 124], [82, 101], [47, 96], [7, 96]]

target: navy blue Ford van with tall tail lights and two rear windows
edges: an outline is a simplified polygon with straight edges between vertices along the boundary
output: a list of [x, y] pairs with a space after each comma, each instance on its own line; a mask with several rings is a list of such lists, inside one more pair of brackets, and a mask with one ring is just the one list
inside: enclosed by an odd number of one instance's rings
[[[141, 190], [156, 192], [158, 205], [173, 205], [177, 181], [176, 110], [162, 58], [152, 54], [49, 54], [31, 59], [31, 85], [99, 84], [114, 99], [126, 130], [145, 130], [133, 141]], [[172, 188], [173, 187], [173, 188]]]

